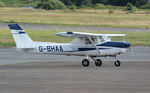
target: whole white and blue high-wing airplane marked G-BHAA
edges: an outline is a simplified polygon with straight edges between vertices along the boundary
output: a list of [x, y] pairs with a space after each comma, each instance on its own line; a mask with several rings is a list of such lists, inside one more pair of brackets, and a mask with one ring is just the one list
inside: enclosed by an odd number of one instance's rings
[[70, 43], [36, 42], [16, 23], [9, 24], [10, 31], [16, 43], [16, 48], [25, 53], [40, 53], [68, 56], [85, 56], [82, 66], [90, 65], [91, 57], [96, 66], [102, 65], [99, 57], [114, 57], [114, 65], [119, 67], [121, 62], [116, 58], [127, 51], [131, 44], [126, 41], [111, 41], [112, 37], [126, 36], [125, 34], [94, 34], [84, 32], [59, 32], [55, 35], [74, 38]]

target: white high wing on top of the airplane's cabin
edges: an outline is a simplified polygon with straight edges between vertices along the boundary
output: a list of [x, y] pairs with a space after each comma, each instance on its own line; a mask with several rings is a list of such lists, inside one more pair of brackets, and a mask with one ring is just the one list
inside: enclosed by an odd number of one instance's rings
[[63, 37], [71, 37], [71, 38], [76, 38], [76, 37], [84, 37], [88, 38], [89, 36], [91, 38], [96, 38], [96, 37], [121, 37], [121, 36], [126, 36], [125, 34], [93, 34], [93, 33], [84, 33], [84, 32], [59, 32], [56, 33], [55, 35], [63, 36]]

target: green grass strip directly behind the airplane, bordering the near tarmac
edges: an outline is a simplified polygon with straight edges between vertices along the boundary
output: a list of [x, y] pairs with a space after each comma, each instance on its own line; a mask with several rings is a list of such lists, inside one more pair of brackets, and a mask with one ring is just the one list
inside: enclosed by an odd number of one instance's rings
[[[34, 41], [42, 42], [70, 42], [72, 38], [65, 38], [54, 35], [54, 33], [62, 32], [54, 30], [26, 30], [26, 33]], [[85, 32], [85, 31], [79, 31]], [[126, 41], [130, 42], [132, 45], [144, 45], [150, 46], [150, 32], [99, 32], [99, 31], [89, 31], [91, 33], [118, 33], [126, 34]], [[0, 29], [0, 47], [14, 47], [15, 43], [13, 37], [8, 29]], [[122, 41], [122, 38], [112, 38], [112, 40]]]

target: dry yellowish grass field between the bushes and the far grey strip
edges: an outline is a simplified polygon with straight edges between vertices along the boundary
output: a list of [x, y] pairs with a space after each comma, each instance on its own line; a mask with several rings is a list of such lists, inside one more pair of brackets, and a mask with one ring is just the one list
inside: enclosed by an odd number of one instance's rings
[[0, 8], [1, 23], [36, 23], [70, 26], [109, 26], [150, 28], [147, 11], [125, 13], [121, 10], [55, 10]]

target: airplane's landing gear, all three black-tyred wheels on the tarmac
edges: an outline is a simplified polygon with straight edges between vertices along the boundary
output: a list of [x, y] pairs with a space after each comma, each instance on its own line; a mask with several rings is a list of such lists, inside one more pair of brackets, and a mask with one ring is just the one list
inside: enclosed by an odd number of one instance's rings
[[[102, 60], [101, 59], [94, 59], [93, 57], [91, 57], [94, 61], [95, 61], [95, 66], [102, 66]], [[90, 61], [88, 60], [88, 58], [83, 59], [82, 61], [82, 66], [87, 67], [90, 65]], [[114, 62], [114, 65], [116, 67], [119, 67], [121, 65], [121, 62], [119, 60], [116, 59], [116, 61]]]

